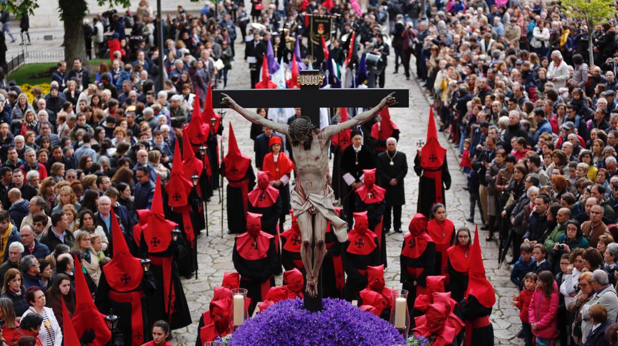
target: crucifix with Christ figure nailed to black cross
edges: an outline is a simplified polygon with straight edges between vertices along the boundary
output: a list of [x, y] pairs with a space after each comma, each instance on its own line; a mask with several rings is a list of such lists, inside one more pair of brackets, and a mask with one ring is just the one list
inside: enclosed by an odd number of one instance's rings
[[[317, 71], [302, 71], [302, 72], [317, 72]], [[315, 86], [317, 87], [317, 83]], [[319, 89], [318, 89], [319, 90]], [[396, 106], [396, 93], [405, 97], [405, 105], [407, 105], [407, 90], [397, 90], [396, 92], [390, 92], [385, 95], [384, 89], [365, 89], [365, 90], [347, 90], [347, 89], [329, 89], [324, 91], [311, 92], [312, 97], [308, 100], [301, 100], [302, 90], [298, 89], [286, 89], [286, 90], [270, 90], [262, 91], [255, 90], [261, 93], [261, 104], [263, 106], [276, 106], [277, 103], [285, 103], [283, 106], [287, 106], [289, 102], [284, 101], [283, 95], [276, 95], [277, 92], [286, 92], [286, 95], [298, 100], [299, 103], [311, 104], [310, 110], [302, 111], [302, 115], [299, 118], [294, 119], [292, 123], [279, 124], [269, 119], [263, 118], [253, 111], [249, 111], [239, 106], [229, 95], [219, 92], [215, 96], [213, 92], [213, 98], [221, 97], [221, 105], [224, 107], [232, 108], [237, 111], [247, 120], [261, 126], [273, 129], [273, 131], [279, 132], [287, 136], [288, 140], [292, 143], [292, 155], [295, 162], [295, 171], [297, 176], [297, 183], [294, 190], [290, 193], [290, 204], [294, 215], [298, 218], [298, 226], [300, 228], [302, 244], [300, 248], [300, 256], [303, 262], [303, 266], [307, 272], [307, 287], [305, 288], [305, 308], [311, 311], [321, 310], [321, 297], [318, 289], [318, 277], [320, 274], [320, 267], [326, 255], [326, 243], [324, 242], [324, 236], [326, 235], [326, 227], [328, 222], [334, 229], [334, 233], [337, 236], [339, 242], [347, 240], [347, 223], [339, 218], [334, 206], [334, 193], [331, 187], [328, 185], [327, 174], [328, 170], [328, 150], [331, 137], [337, 133], [344, 131], [345, 129], [359, 126], [360, 124], [369, 121], [373, 116], [377, 115], [381, 110], [389, 106]], [[251, 91], [252, 93], [255, 91]], [[339, 105], [330, 102], [330, 97], [343, 97], [344, 91], [350, 92], [348, 97], [373, 98], [375, 100], [376, 95], [382, 95], [379, 104], [368, 111], [360, 113], [359, 115], [345, 121], [344, 123], [333, 124], [320, 129], [316, 124], [319, 124], [319, 108], [321, 103], [326, 103], [326, 106], [346, 106], [347, 100], [336, 100]], [[391, 91], [391, 90], [389, 90]], [[228, 92], [228, 90], [225, 90]], [[239, 93], [240, 92], [240, 93]], [[315, 94], [319, 92], [320, 96]], [[331, 93], [330, 92], [335, 92]], [[360, 93], [359, 93], [360, 92]], [[231, 90], [232, 95], [239, 95], [239, 97], [255, 97], [250, 93], [245, 93], [245, 90]], [[268, 94], [267, 94], [268, 93]], [[271, 95], [272, 94], [272, 95]], [[292, 95], [292, 96], [290, 96]], [[338, 95], [338, 96], [337, 96]], [[272, 97], [272, 99], [271, 99]], [[326, 101], [324, 101], [326, 100]], [[377, 103], [377, 102], [376, 102]], [[254, 106], [255, 103], [249, 103], [250, 106]], [[358, 102], [352, 102], [352, 106], [359, 105]], [[363, 103], [365, 105], [365, 103]], [[374, 103], [375, 105], [375, 103]], [[298, 106], [298, 105], [296, 105]], [[308, 306], [307, 297], [313, 298], [314, 304]]]

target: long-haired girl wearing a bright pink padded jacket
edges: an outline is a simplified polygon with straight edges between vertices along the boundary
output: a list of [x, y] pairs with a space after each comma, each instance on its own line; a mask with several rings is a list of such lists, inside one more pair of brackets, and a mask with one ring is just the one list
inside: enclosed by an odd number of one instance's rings
[[537, 345], [552, 345], [558, 336], [558, 292], [554, 275], [543, 270], [536, 279], [536, 290], [528, 306], [528, 321]]

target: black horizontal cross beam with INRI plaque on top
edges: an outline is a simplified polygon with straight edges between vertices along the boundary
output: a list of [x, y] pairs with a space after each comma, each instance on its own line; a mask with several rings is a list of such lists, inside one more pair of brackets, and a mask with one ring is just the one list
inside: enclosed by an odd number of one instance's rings
[[[320, 74], [317, 70], [300, 71], [303, 76]], [[320, 108], [350, 107], [373, 108], [380, 101], [395, 93], [397, 105], [408, 107], [408, 89], [320, 89], [320, 85], [300, 83], [300, 89], [237, 89], [213, 90], [213, 105], [221, 107], [221, 93], [226, 93], [243, 108], [301, 108], [311, 123], [320, 127]]]

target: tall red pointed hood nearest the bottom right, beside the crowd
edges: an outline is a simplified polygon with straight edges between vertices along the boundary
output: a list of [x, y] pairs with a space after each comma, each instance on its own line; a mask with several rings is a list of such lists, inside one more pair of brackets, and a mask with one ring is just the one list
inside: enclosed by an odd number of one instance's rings
[[468, 301], [468, 296], [475, 296], [478, 302], [491, 308], [496, 303], [496, 294], [494, 287], [485, 277], [485, 265], [483, 264], [483, 256], [481, 254], [481, 244], [478, 238], [478, 226], [475, 231], [474, 243], [470, 248], [470, 263], [468, 264], [468, 289], [465, 292], [465, 299]]

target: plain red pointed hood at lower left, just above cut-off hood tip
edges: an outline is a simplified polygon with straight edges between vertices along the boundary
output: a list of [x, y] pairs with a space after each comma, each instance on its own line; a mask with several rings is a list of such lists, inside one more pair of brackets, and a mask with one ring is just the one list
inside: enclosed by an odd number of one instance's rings
[[77, 256], [74, 256], [75, 261], [75, 314], [71, 319], [77, 335], [82, 335], [87, 329], [94, 329], [95, 340], [88, 345], [104, 346], [107, 345], [112, 337], [111, 332], [105, 323], [105, 315], [99, 313], [96, 309], [95, 302], [92, 300], [86, 277], [82, 272], [82, 264], [80, 264]]

